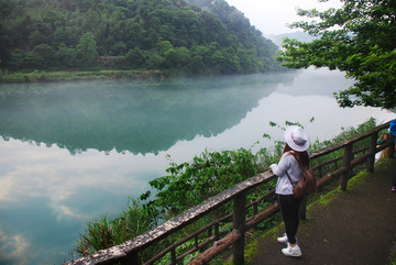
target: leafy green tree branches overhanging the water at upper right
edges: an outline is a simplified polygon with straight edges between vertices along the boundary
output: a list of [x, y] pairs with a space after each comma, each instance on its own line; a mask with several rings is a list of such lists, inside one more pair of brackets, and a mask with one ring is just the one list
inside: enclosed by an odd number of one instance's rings
[[293, 24], [318, 38], [285, 40], [278, 57], [285, 66], [345, 71], [355, 84], [336, 95], [341, 107], [396, 107], [396, 1], [344, 0], [338, 10], [299, 14], [320, 19]]

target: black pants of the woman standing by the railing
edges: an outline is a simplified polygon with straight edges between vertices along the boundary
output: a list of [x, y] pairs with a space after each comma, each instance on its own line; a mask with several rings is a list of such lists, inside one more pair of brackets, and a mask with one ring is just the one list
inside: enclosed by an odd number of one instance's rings
[[282, 218], [290, 244], [296, 244], [296, 233], [299, 224], [298, 211], [301, 200], [301, 198], [296, 198], [293, 195], [278, 195]]

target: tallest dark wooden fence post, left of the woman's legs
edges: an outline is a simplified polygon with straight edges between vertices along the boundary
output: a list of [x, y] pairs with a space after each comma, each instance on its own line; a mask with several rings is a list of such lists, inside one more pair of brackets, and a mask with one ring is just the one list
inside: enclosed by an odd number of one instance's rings
[[244, 232], [245, 232], [245, 206], [246, 192], [241, 192], [233, 201], [233, 229], [237, 230], [241, 236], [233, 244], [233, 264], [244, 264]]

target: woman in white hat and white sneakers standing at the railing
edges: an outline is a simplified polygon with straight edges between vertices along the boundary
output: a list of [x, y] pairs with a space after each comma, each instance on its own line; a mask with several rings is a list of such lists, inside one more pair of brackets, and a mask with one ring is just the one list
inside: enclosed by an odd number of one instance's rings
[[[275, 194], [278, 197], [282, 218], [286, 233], [277, 241], [287, 244], [282, 252], [286, 256], [301, 256], [301, 250], [297, 244], [296, 233], [299, 224], [299, 207], [301, 198], [293, 195], [293, 186], [302, 174], [302, 168], [309, 166], [309, 139], [306, 131], [299, 126], [288, 126], [285, 132], [286, 145], [279, 163], [270, 166], [270, 170], [278, 176]], [[293, 185], [292, 185], [292, 181]]]

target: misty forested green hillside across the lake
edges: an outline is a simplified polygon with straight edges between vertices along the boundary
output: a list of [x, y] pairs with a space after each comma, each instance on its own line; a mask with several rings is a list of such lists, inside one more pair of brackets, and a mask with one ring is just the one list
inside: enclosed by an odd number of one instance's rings
[[224, 0], [3, 0], [4, 70], [279, 68], [276, 45]]

